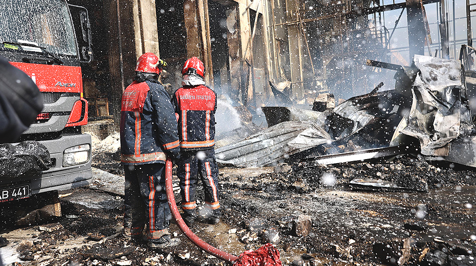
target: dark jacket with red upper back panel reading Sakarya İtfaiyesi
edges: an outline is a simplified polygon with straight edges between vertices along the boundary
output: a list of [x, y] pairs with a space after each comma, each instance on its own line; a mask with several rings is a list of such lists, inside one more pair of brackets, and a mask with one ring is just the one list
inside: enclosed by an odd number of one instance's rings
[[179, 115], [180, 148], [213, 148], [217, 94], [205, 85], [183, 86], [172, 95], [172, 105]]

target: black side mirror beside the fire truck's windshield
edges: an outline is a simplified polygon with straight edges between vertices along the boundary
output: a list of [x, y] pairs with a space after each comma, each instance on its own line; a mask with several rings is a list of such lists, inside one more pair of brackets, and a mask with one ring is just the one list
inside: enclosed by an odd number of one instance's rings
[[89, 63], [93, 60], [93, 51], [91, 50], [91, 24], [89, 22], [88, 10], [84, 7], [70, 4], [68, 4], [68, 7], [70, 8], [76, 33], [79, 58], [81, 63]]

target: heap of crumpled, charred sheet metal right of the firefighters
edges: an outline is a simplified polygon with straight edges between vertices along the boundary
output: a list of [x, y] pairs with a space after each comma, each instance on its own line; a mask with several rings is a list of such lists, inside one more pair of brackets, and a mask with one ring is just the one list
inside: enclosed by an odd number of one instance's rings
[[263, 107], [272, 126], [218, 148], [219, 162], [309, 166], [413, 154], [427, 161], [476, 166], [473, 86], [459, 61], [416, 55], [411, 66], [372, 60], [367, 65], [394, 70], [395, 89], [380, 92], [379, 84], [333, 109], [323, 107], [333, 106], [323, 103], [333, 101], [329, 95], [316, 99], [314, 110]]

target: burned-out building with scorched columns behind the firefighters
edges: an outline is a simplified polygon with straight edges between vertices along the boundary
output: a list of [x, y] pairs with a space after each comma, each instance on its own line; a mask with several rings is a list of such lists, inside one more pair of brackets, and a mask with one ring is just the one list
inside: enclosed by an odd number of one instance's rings
[[[145, 52], [167, 61], [162, 82], [169, 93], [181, 85], [182, 63], [197, 56], [205, 64], [207, 84], [218, 95], [261, 113], [261, 106], [309, 106], [323, 93], [333, 94], [339, 103], [371, 92], [382, 81], [383, 90], [391, 89], [392, 73], [365, 66], [366, 59], [410, 65], [415, 54], [432, 56], [435, 50], [445, 58], [449, 46], [455, 50], [457, 45], [450, 39], [448, 14], [442, 12], [448, 3], [436, 0], [69, 3], [86, 7], [91, 20], [94, 60], [82, 67], [90, 117], [115, 116], [116, 122], [122, 91]], [[425, 7], [437, 11], [436, 22], [428, 20]], [[389, 22], [385, 12], [392, 10], [396, 20]], [[455, 19], [453, 11], [453, 28]], [[396, 33], [400, 28], [406, 36]], [[397, 35], [405, 42], [403, 50], [392, 47]], [[276, 96], [270, 82], [289, 103]]]

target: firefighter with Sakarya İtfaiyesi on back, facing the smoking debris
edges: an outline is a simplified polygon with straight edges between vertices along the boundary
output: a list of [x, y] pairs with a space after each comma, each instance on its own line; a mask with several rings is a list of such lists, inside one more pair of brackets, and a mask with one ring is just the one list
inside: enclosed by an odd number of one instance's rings
[[199, 216], [195, 195], [198, 175], [204, 187], [206, 211], [199, 217], [205, 223], [218, 224], [221, 216], [214, 151], [217, 95], [205, 86], [204, 71], [200, 59], [188, 59], [182, 68], [182, 87], [172, 95], [180, 137], [181, 157], [177, 163], [177, 176], [180, 179], [183, 218], [188, 226]]

